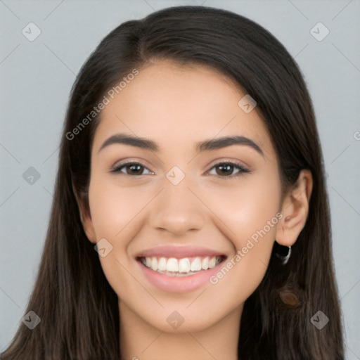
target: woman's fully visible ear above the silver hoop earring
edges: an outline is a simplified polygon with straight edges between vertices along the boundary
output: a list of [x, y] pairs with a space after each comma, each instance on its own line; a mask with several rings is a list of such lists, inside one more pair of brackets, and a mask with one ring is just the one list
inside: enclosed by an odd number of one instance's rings
[[311, 172], [302, 169], [295, 186], [285, 195], [281, 208], [283, 218], [276, 227], [275, 239], [280, 245], [292, 246], [304, 229], [309, 213], [312, 184]]

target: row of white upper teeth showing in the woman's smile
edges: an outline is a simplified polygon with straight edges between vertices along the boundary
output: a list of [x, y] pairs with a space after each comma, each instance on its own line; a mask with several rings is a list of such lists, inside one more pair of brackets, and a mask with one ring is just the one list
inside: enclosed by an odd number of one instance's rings
[[180, 274], [191, 275], [196, 271], [212, 269], [221, 262], [221, 257], [195, 257], [193, 261], [188, 257], [184, 257], [183, 259], [176, 259], [175, 257], [145, 257], [141, 258], [141, 262], [148, 268], [162, 274], [165, 274], [165, 271], [169, 271], [177, 273], [174, 274], [174, 276], [179, 276]]

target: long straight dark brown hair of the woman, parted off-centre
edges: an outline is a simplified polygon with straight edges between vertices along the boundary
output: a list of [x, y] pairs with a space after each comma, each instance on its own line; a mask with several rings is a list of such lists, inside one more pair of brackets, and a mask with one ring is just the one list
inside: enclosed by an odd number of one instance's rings
[[[2, 359], [120, 359], [117, 295], [86, 238], [75, 195], [86, 195], [89, 186], [99, 121], [89, 114], [109, 89], [153, 58], [207, 65], [233, 79], [257, 101], [283, 187], [295, 184], [301, 169], [313, 176], [309, 215], [288, 264], [279, 262], [274, 246], [262, 283], [245, 302], [239, 358], [343, 359], [323, 157], [301, 72], [264, 28], [236, 13], [204, 6], [165, 8], [123, 23], [80, 70], [63, 128], [39, 274], [25, 311], [34, 311], [41, 323], [33, 330], [22, 323]], [[79, 126], [86, 117], [86, 126]], [[297, 304], [287, 304], [283, 290], [291, 290]], [[330, 319], [321, 330], [311, 322], [317, 311]]]

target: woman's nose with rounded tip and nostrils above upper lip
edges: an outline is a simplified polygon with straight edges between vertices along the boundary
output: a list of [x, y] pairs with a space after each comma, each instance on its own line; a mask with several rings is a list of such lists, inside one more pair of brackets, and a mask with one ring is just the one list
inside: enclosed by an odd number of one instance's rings
[[193, 189], [188, 188], [185, 179], [176, 186], [165, 184], [165, 188], [154, 199], [150, 213], [151, 227], [175, 236], [202, 229], [206, 207], [194, 193]]

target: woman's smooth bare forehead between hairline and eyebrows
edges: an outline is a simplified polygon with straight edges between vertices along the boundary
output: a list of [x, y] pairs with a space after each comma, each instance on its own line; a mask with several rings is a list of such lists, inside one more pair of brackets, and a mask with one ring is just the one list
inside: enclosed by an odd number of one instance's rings
[[184, 66], [172, 60], [138, 70], [118, 94], [108, 96], [94, 150], [117, 132], [154, 139], [164, 148], [236, 134], [273, 150], [256, 108], [250, 113], [240, 108], [238, 103], [246, 93], [229, 77], [205, 66]]

